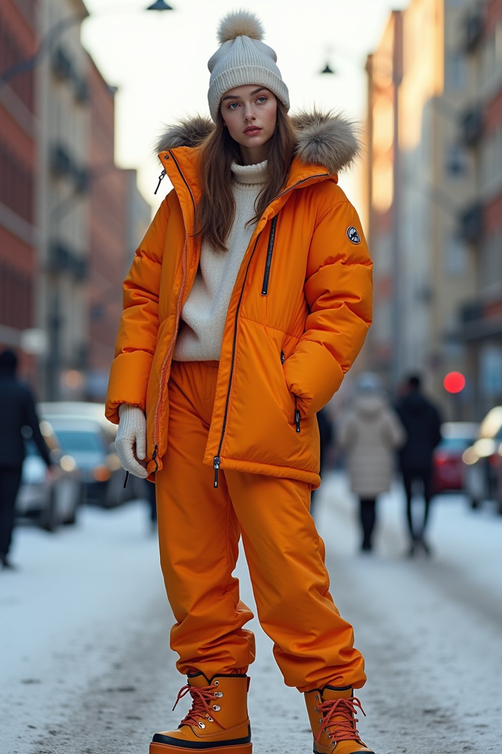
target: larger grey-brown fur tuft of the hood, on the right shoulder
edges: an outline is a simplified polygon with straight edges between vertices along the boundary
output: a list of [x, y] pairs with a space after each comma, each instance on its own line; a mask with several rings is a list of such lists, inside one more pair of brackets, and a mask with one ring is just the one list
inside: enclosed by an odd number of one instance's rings
[[330, 173], [350, 167], [361, 152], [356, 124], [332, 112], [302, 111], [291, 116], [297, 132], [296, 154], [306, 164], [325, 165]]

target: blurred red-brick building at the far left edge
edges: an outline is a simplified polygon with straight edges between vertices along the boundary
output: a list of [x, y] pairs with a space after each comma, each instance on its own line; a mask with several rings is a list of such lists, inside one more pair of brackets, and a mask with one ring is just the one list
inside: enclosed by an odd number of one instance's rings
[[[2, 0], [0, 74], [14, 72], [20, 60], [35, 54], [35, 5], [34, 0]], [[0, 348], [24, 347], [30, 354], [38, 271], [37, 159], [34, 74], [26, 69], [6, 81], [0, 78]], [[34, 359], [26, 354], [21, 367], [33, 373]]]

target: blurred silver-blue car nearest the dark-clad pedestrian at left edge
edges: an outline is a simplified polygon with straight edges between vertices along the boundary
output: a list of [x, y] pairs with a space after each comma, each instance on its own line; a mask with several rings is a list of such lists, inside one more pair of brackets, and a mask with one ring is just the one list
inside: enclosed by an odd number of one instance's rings
[[53, 427], [41, 421], [41, 433], [50, 449], [49, 471], [30, 437], [25, 437], [21, 486], [16, 499], [18, 519], [35, 520], [53, 532], [59, 524], [74, 524], [81, 500], [81, 487], [73, 458], [62, 452]]

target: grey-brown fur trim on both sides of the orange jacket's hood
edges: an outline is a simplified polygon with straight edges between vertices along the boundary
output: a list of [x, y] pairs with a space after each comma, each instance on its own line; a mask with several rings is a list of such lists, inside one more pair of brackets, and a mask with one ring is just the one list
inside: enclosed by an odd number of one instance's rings
[[[290, 118], [297, 134], [295, 155], [307, 165], [323, 165], [333, 175], [350, 167], [361, 152], [357, 125], [342, 115], [314, 110]], [[157, 142], [157, 152], [200, 146], [213, 128], [214, 123], [202, 115], [185, 118], [166, 128]]]

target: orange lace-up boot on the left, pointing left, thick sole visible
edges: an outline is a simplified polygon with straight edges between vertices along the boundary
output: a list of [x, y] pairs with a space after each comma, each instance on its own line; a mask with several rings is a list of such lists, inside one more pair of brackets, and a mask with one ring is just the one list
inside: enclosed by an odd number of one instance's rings
[[[211, 754], [251, 754], [248, 676], [188, 676], [176, 704], [190, 694], [192, 706], [176, 731], [156, 733], [150, 754], [183, 754], [193, 749]], [[173, 707], [174, 710], [174, 707]]]

